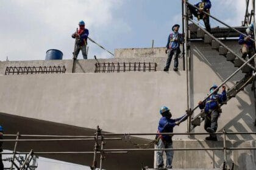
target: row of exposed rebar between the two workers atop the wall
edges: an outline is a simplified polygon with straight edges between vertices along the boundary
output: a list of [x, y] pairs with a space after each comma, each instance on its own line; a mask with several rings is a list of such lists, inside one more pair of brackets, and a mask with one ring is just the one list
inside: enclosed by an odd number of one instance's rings
[[112, 72], [156, 72], [157, 63], [95, 63], [95, 73]]

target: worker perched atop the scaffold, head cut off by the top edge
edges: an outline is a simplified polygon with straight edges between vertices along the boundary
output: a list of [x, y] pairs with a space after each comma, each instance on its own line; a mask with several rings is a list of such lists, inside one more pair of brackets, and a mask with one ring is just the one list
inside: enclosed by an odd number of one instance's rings
[[[197, 10], [194, 6], [196, 6], [199, 10]], [[205, 28], [210, 33], [211, 32], [210, 17], [205, 13], [203, 13], [203, 11], [210, 13], [210, 8], [212, 7], [211, 1], [202, 0], [201, 2], [198, 2], [197, 4], [195, 4], [194, 6], [188, 4], [188, 9], [190, 10], [191, 14], [193, 14], [198, 20], [203, 19]], [[193, 19], [193, 16], [190, 15], [190, 18]]]

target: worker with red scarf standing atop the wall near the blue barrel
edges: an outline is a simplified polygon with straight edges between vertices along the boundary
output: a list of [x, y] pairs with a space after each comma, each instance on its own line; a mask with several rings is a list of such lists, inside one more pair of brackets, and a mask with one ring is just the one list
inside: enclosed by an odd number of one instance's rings
[[79, 30], [78, 32], [73, 33], [72, 38], [76, 38], [75, 49], [73, 53], [73, 59], [77, 59], [77, 55], [79, 54], [80, 50], [82, 50], [82, 55], [84, 59], [87, 59], [87, 38], [89, 35], [89, 30], [85, 29], [85, 22], [79, 22]]

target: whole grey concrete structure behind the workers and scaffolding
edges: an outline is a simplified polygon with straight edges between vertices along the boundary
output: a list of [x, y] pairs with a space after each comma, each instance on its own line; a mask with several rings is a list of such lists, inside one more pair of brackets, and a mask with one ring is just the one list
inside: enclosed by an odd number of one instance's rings
[[[240, 46], [236, 41], [226, 41], [229, 47], [239, 53]], [[154, 49], [151, 49], [154, 52]], [[162, 72], [166, 56], [135, 55], [129, 50], [119, 50], [115, 59], [99, 60], [99, 62], [133, 62], [152, 61], [158, 63], [158, 72], [126, 72], [126, 73], [94, 73], [96, 60], [76, 61], [76, 73], [72, 70], [72, 61], [23, 61], [1, 62], [0, 73], [4, 73], [7, 66], [63, 66], [67, 68], [65, 74], [51, 75], [1, 75], [0, 76], [0, 118], [9, 133], [29, 134], [93, 134], [96, 125], [104, 131], [112, 133], [151, 133], [157, 131], [160, 118], [158, 110], [166, 105], [171, 108], [174, 117], [185, 113], [187, 106], [196, 106], [208, 93], [209, 87], [219, 84], [235, 71], [232, 63], [224, 56], [202, 41], [191, 42], [189, 93], [187, 94], [187, 75], [182, 69], [179, 72]], [[161, 53], [155, 49], [155, 53]], [[129, 55], [130, 53], [130, 55]], [[139, 50], [136, 50], [139, 53]], [[123, 58], [123, 56], [125, 58]], [[132, 56], [132, 57], [130, 57]], [[138, 58], [135, 58], [138, 57]], [[172, 62], [173, 63], [173, 62]], [[180, 59], [182, 64], [182, 59]], [[182, 67], [182, 65], [180, 65]], [[232, 87], [243, 77], [239, 73], [227, 83]], [[190, 99], [187, 103], [187, 97]], [[219, 119], [218, 130], [255, 132], [255, 103], [254, 94], [248, 86], [236, 98], [222, 107], [223, 113]], [[197, 110], [199, 112], [199, 110]], [[175, 132], [186, 132], [187, 124], [175, 127]], [[203, 126], [196, 127], [195, 132], [204, 132]], [[218, 146], [222, 142], [205, 142], [205, 136], [174, 136], [177, 140], [174, 147], [196, 148], [197, 146]], [[147, 143], [154, 136], [132, 140]], [[254, 146], [255, 135], [229, 136], [230, 146]], [[222, 137], [219, 137], [222, 140]], [[234, 140], [234, 141], [233, 141]], [[238, 141], [243, 140], [243, 141]], [[239, 143], [239, 144], [238, 144]], [[5, 145], [12, 149], [13, 143]], [[54, 144], [29, 143], [20, 146], [21, 151], [30, 147], [38, 151], [92, 151], [93, 143]], [[72, 146], [72, 147], [71, 147]], [[81, 146], [81, 147], [80, 147]], [[108, 148], [129, 148], [130, 143], [124, 141], [108, 141]], [[48, 150], [49, 149], [49, 150]], [[66, 150], [67, 149], [67, 150]], [[198, 157], [194, 157], [194, 153]], [[108, 155], [104, 161], [107, 169], [140, 169], [140, 163], [152, 167], [153, 152], [130, 152], [124, 155]], [[67, 155], [47, 157], [71, 161], [84, 165], [91, 165], [92, 155], [81, 157]], [[235, 162], [235, 168], [255, 169], [255, 152], [229, 152], [230, 160]], [[174, 168], [221, 168], [222, 151], [176, 152]], [[126, 167], [124, 166], [126, 165]], [[129, 166], [127, 166], [129, 165]]]

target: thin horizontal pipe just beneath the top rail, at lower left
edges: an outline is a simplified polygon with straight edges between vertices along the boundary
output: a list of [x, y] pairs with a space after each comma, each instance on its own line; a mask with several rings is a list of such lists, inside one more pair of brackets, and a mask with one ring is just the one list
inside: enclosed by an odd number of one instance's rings
[[[94, 140], [94, 138], [50, 138], [50, 139], [4, 139], [0, 141], [84, 141]], [[122, 140], [122, 138], [105, 138], [105, 140]]]

